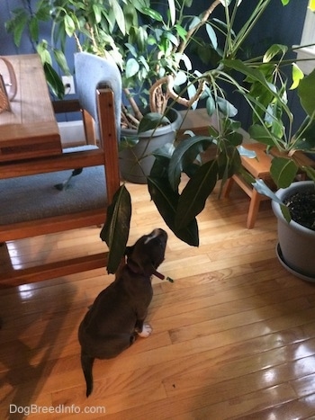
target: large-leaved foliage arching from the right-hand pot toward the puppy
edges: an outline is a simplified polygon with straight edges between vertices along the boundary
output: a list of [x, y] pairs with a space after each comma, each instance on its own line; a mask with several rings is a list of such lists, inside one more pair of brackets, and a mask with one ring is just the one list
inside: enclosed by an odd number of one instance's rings
[[[233, 24], [242, 3], [247, 3], [252, 13], [241, 30], [235, 33]], [[238, 111], [229, 103], [221, 87], [222, 83], [230, 85], [246, 100], [253, 115], [253, 124], [249, 129], [252, 139], [266, 145], [267, 153], [276, 149], [282, 155], [273, 159], [271, 174], [275, 183], [279, 187], [289, 185], [299, 169], [306, 171], [315, 181], [314, 169], [301, 167], [295, 158], [297, 150], [315, 152], [315, 71], [303, 77], [293, 59], [286, 58], [287, 47], [284, 45], [270, 46], [262, 57], [246, 60], [238, 58], [244, 40], [270, 1], [254, 3], [246, 0], [213, 3], [213, 7], [224, 7], [226, 20], [224, 25], [220, 25], [220, 28], [226, 29], [223, 32], [224, 45], [221, 49], [216, 47], [221, 54], [218, 66], [202, 74], [199, 83], [204, 86], [207, 111], [211, 116], [216, 115], [218, 128], [209, 127], [209, 136], [188, 133], [187, 138], [178, 145], [166, 145], [157, 150], [154, 153], [155, 164], [148, 176], [148, 191], [167, 226], [177, 237], [193, 246], [199, 244], [196, 216], [204, 208], [205, 201], [219, 180], [222, 186], [231, 174], [243, 173], [259, 192], [276, 199], [265, 184], [256, 182], [242, 169], [240, 154], [247, 152], [241, 147], [242, 136], [238, 133], [240, 123], [235, 119]], [[289, 0], [283, 0], [282, 3], [286, 5]], [[213, 35], [211, 37], [214, 40]], [[290, 74], [290, 77], [286, 74]], [[305, 111], [305, 120], [293, 132], [294, 116], [287, 98], [288, 91], [294, 89]], [[214, 157], [202, 164], [199, 156], [210, 145], [215, 147]], [[189, 177], [184, 185], [181, 184], [183, 173]], [[101, 235], [110, 247], [113, 240], [117, 246], [119, 236], [115, 233], [122, 220], [128, 224], [125, 217], [128, 211], [124, 205], [128, 194], [125, 185], [122, 185], [112, 203], [114, 217], [108, 219], [105, 226], [106, 232], [111, 235]], [[109, 261], [110, 272], [115, 270], [113, 262], [119, 260], [118, 248], [115, 248], [116, 252], [111, 257], [113, 259]], [[121, 242], [121, 253], [123, 249], [124, 244]]]

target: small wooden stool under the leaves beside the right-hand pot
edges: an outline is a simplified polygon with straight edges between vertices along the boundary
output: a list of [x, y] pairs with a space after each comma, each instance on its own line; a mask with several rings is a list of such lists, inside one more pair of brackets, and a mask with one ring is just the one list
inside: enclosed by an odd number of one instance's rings
[[[259, 143], [248, 143], [243, 145], [248, 150], [254, 150], [257, 157], [241, 156], [243, 167], [256, 179], [262, 179], [265, 183], [271, 183], [270, 165], [271, 157], [266, 155], [266, 146]], [[259, 194], [255, 188], [247, 183], [240, 174], [234, 174], [225, 184], [223, 197], [229, 197], [233, 183], [238, 183], [240, 188], [250, 197], [249, 210], [247, 214], [247, 229], [254, 228], [259, 210], [260, 201], [270, 200], [266, 195]]]

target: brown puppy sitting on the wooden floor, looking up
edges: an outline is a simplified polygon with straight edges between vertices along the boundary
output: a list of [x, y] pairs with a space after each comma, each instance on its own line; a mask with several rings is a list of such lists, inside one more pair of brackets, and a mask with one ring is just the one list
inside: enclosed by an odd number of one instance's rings
[[164, 260], [167, 234], [156, 228], [126, 249], [127, 263], [115, 280], [94, 300], [78, 329], [86, 397], [93, 390], [94, 359], [111, 359], [132, 344], [137, 335], [148, 337], [144, 324], [153, 296], [151, 275]]

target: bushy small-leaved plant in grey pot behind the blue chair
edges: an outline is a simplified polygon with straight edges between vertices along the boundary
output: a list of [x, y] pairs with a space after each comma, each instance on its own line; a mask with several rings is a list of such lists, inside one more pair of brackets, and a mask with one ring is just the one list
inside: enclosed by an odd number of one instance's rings
[[[64, 54], [69, 38], [78, 50], [114, 59], [124, 87], [121, 173], [144, 183], [154, 161], [152, 151], [174, 141], [180, 126], [173, 104], [190, 107], [201, 94], [202, 85], [193, 84], [193, 65], [185, 50], [207, 24], [211, 7], [194, 16], [192, 5], [193, 0], [39, 0], [31, 7], [29, 1], [28, 8], [14, 10], [6, 28], [17, 44], [28, 29], [49, 85], [59, 97], [63, 85], [51, 66], [52, 58], [62, 72], [69, 73]], [[49, 41], [39, 38], [44, 21], [52, 21]], [[180, 94], [184, 91], [185, 98]]]

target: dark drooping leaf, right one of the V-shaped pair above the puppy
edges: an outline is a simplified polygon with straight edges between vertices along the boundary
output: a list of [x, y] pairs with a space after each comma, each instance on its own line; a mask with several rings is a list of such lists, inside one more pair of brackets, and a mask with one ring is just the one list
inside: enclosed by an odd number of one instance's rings
[[185, 185], [176, 210], [175, 226], [185, 228], [205, 206], [218, 180], [218, 165], [209, 161], [200, 166]]

